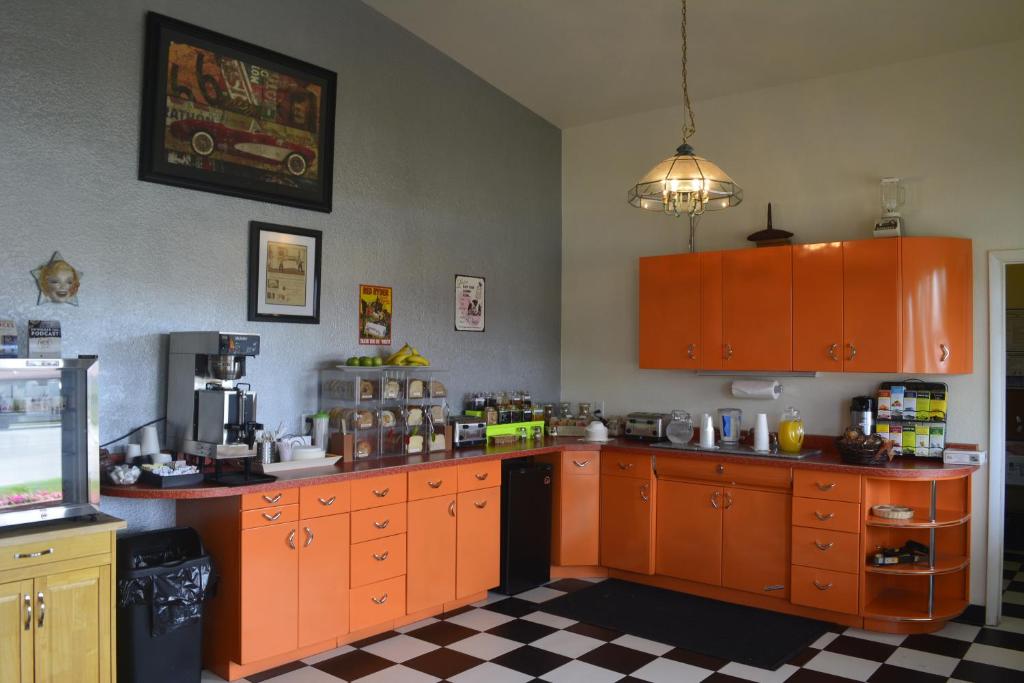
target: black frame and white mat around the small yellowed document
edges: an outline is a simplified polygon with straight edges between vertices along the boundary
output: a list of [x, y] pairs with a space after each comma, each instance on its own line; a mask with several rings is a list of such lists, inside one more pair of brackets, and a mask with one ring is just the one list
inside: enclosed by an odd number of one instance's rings
[[[262, 245], [264, 244], [264, 233], [267, 241], [272, 236], [290, 236], [295, 239], [296, 246], [313, 249], [312, 259], [306, 256], [305, 267], [298, 268], [304, 271], [304, 278], [311, 278], [311, 282], [306, 282], [304, 312], [289, 313], [282, 309], [283, 305], [269, 303], [265, 296], [267, 293], [267, 279], [269, 276], [269, 257], [261, 259], [263, 256]], [[261, 221], [251, 221], [249, 223], [249, 319], [257, 323], [303, 323], [308, 325], [319, 325], [321, 308], [321, 264], [324, 253], [324, 233], [321, 230], [310, 230], [304, 227], [291, 227], [288, 225], [278, 225], [274, 223], [264, 223]], [[309, 261], [313, 263], [313, 269], [308, 269]], [[261, 262], [263, 266], [261, 267]], [[293, 276], [295, 273], [291, 273]], [[261, 301], [260, 292], [264, 293]]]

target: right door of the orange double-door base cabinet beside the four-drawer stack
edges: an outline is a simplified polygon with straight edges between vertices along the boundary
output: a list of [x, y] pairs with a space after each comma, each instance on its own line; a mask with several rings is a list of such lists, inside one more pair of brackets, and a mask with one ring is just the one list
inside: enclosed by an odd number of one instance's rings
[[790, 495], [745, 488], [723, 494], [722, 585], [788, 598]]

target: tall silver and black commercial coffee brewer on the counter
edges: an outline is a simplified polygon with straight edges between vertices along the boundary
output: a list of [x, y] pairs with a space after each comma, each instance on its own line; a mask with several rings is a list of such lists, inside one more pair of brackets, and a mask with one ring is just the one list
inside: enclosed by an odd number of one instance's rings
[[[226, 485], [272, 481], [251, 471], [256, 456], [256, 393], [246, 359], [259, 355], [259, 335], [172, 332], [167, 359], [167, 441], [214, 464], [212, 481]], [[222, 472], [221, 463], [243, 459], [242, 472]]]

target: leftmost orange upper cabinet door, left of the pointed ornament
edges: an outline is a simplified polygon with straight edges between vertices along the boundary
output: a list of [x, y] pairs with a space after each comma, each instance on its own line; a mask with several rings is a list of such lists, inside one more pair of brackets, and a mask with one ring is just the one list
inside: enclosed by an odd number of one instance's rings
[[700, 255], [640, 259], [641, 368], [696, 370], [700, 342]]

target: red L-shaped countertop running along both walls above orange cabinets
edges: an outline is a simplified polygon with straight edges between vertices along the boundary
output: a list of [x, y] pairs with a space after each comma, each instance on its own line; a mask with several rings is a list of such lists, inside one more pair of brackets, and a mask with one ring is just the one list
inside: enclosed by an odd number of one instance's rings
[[[828, 439], [827, 443], [825, 439]], [[944, 465], [941, 460], [924, 458], [897, 458], [884, 466], [849, 465], [840, 459], [834, 449], [828, 447], [828, 444], [831, 442], [830, 437], [808, 437], [808, 441], [807, 445], [820, 447], [823, 451], [822, 455], [812, 456], [804, 460], [783, 460], [762, 456], [736, 456], [654, 449], [643, 442], [628, 439], [613, 439], [607, 443], [598, 444], [588, 443], [574, 437], [549, 437], [540, 445], [462, 449], [456, 452], [443, 452], [423, 456], [393, 456], [358, 462], [339, 462], [337, 466], [282, 472], [278, 475], [276, 481], [250, 486], [204, 484], [187, 488], [156, 488], [140, 484], [119, 486], [117, 484], [104, 483], [100, 488], [100, 493], [111, 498], [166, 500], [223, 498], [288, 488], [290, 486], [311, 486], [332, 481], [361, 479], [382, 474], [397, 474], [410, 470], [446, 467], [468, 461], [507, 460], [509, 458], [559, 453], [561, 451], [606, 451], [611, 453], [629, 451], [632, 453], [649, 454], [659, 458], [714, 459], [749, 465], [827, 470], [829, 472], [844, 472], [849, 474], [873, 474], [893, 479], [954, 479], [967, 476], [978, 469], [976, 465]]]

